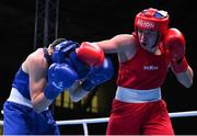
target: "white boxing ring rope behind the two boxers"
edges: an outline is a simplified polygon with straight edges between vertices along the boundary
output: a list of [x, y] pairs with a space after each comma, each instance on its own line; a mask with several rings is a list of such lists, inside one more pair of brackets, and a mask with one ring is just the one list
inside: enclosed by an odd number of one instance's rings
[[[170, 117], [188, 117], [197, 116], [197, 111], [187, 111], [187, 112], [174, 112], [169, 113]], [[84, 120], [70, 120], [70, 121], [57, 121], [58, 125], [83, 125], [84, 136], [89, 136], [88, 124], [95, 123], [106, 123], [109, 117], [100, 117], [100, 118], [84, 118]], [[0, 121], [0, 126], [3, 125], [3, 121]]]

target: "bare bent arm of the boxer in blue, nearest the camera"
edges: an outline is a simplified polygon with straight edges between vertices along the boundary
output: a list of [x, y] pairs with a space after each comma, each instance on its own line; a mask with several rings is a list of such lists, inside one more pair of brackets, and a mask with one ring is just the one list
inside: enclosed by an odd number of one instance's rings
[[45, 64], [42, 53], [35, 52], [27, 57], [22, 66], [27, 70], [30, 76], [30, 94], [33, 109], [39, 113], [51, 104], [51, 100], [47, 100], [43, 93], [46, 86]]

